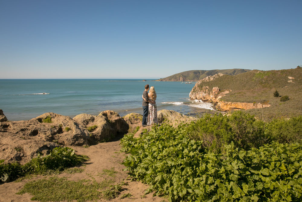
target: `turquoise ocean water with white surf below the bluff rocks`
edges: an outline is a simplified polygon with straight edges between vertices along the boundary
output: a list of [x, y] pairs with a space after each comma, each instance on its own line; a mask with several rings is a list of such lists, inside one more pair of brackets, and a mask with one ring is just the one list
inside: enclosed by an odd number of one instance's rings
[[142, 114], [146, 84], [156, 90], [158, 110], [188, 114], [212, 109], [209, 103], [189, 100], [194, 84], [142, 79], [0, 79], [0, 109], [10, 121], [28, 120], [46, 112], [70, 117], [105, 110], [121, 116]]

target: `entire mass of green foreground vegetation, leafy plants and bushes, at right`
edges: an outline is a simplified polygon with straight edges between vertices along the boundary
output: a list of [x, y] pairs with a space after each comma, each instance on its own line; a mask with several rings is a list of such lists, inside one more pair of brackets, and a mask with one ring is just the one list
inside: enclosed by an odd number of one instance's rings
[[121, 140], [124, 165], [170, 201], [301, 201], [302, 116], [264, 122], [237, 111]]

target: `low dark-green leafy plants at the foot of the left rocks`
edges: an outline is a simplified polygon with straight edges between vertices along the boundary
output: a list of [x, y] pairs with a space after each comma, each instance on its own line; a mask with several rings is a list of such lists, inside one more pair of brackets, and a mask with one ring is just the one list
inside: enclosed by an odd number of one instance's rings
[[26, 174], [49, 174], [79, 165], [86, 160], [88, 160], [87, 156], [75, 154], [75, 151], [69, 147], [56, 147], [50, 154], [46, 156], [38, 154], [24, 165], [18, 162], [4, 163], [4, 160], [1, 160], [0, 177], [2, 180], [13, 180]]

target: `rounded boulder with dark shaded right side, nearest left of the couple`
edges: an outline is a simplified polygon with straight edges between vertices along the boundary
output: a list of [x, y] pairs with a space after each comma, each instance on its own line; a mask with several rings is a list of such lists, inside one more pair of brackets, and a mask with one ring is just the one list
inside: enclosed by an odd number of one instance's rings
[[118, 133], [127, 133], [129, 124], [114, 111], [102, 111], [101, 114], [108, 118], [109, 122], [113, 123]]

